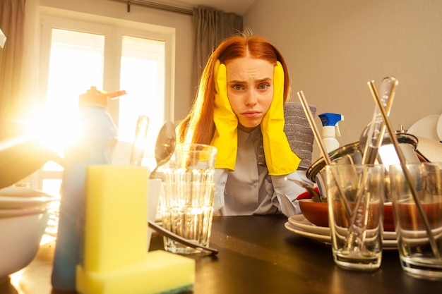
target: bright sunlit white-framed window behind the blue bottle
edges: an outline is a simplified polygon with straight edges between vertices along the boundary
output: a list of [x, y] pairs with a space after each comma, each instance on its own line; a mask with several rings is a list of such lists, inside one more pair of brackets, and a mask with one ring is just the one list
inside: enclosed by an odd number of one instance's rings
[[[129, 21], [124, 25], [119, 20], [116, 26], [109, 19], [97, 20], [100, 22], [42, 17], [40, 95], [46, 99], [49, 114], [45, 117], [51, 121], [46, 124], [47, 133], [52, 134], [48, 135], [51, 145], [62, 152], [64, 124], [57, 122], [65, 121], [77, 109], [80, 94], [91, 86], [107, 92], [126, 90], [128, 94], [109, 102], [109, 113], [119, 129], [113, 163], [129, 164], [137, 118], [146, 115], [150, 123], [143, 165], [153, 169], [157, 133], [173, 118], [169, 93], [174, 31]], [[58, 192], [61, 172], [60, 166], [46, 164], [38, 173], [36, 188]]]

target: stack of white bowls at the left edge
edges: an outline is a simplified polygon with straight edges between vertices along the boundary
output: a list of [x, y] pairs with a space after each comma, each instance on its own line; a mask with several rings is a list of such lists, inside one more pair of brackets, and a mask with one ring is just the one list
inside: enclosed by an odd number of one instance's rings
[[23, 187], [0, 189], [0, 283], [37, 254], [58, 197]]

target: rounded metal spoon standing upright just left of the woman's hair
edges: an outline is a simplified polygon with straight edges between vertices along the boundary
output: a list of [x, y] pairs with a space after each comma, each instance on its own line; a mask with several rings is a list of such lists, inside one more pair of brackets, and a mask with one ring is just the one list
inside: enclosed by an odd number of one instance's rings
[[150, 178], [155, 178], [157, 169], [169, 161], [175, 151], [176, 144], [175, 126], [172, 121], [166, 121], [158, 133], [157, 142], [155, 143], [155, 160], [157, 166], [150, 173]]

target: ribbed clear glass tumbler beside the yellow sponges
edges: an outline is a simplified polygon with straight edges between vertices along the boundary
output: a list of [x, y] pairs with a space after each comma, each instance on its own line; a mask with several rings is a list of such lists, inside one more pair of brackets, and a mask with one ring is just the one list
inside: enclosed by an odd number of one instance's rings
[[[162, 226], [204, 246], [209, 245], [212, 230], [216, 154], [213, 146], [178, 144], [163, 170]], [[164, 243], [169, 252], [201, 252], [167, 237]]]

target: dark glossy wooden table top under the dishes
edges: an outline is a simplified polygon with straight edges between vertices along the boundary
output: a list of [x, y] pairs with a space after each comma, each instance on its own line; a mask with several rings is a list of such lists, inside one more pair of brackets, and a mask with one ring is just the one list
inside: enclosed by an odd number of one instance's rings
[[[413, 278], [402, 271], [397, 250], [383, 252], [374, 272], [335, 266], [330, 245], [287, 231], [285, 216], [216, 216], [210, 242], [218, 255], [196, 259], [195, 294], [249, 293], [442, 293], [442, 281]], [[155, 235], [151, 250], [162, 249]], [[1, 294], [58, 294], [50, 273], [54, 243], [40, 247], [32, 263], [0, 284]], [[122, 293], [131, 294], [131, 293]]]

